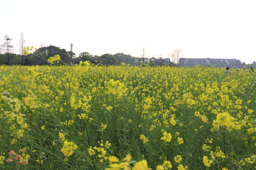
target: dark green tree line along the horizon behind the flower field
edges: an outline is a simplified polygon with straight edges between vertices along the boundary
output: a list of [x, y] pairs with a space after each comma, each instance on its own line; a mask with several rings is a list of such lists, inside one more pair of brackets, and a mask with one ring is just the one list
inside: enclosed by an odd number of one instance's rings
[[[19, 40], [20, 53], [15, 54], [12, 52], [13, 45], [11, 44], [12, 39], [6, 35], [4, 37], [4, 44], [0, 46], [0, 65], [46, 65], [47, 59], [55, 55], [60, 55], [61, 60], [59, 61], [60, 65], [71, 65], [79, 64], [80, 61], [90, 61], [93, 64], [101, 65], [120, 65], [121, 63], [134, 65], [145, 65], [150, 64], [151, 66], [163, 66], [163, 65], [177, 65], [173, 63], [170, 59], [154, 57], [148, 58], [139, 58], [133, 57], [129, 54], [116, 53], [116, 54], [103, 54], [101, 56], [92, 55], [89, 52], [82, 52], [76, 57], [75, 53], [72, 51], [66, 51], [60, 47], [50, 45], [48, 47], [40, 47], [33, 53], [25, 56], [23, 48], [25, 47], [25, 40], [23, 33], [21, 33], [21, 38]], [[173, 57], [173, 54], [172, 54]], [[175, 60], [176, 61], [176, 60]]]

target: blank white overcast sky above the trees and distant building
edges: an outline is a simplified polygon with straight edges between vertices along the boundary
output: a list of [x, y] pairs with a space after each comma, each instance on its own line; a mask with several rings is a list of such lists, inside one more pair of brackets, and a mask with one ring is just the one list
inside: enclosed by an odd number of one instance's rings
[[26, 45], [93, 55], [256, 60], [256, 0], [0, 0], [0, 44], [23, 31]]

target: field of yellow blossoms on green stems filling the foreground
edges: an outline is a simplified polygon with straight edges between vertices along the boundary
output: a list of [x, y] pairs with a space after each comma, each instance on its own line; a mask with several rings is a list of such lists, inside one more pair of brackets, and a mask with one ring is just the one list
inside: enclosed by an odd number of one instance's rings
[[0, 67], [0, 169], [256, 170], [255, 72], [55, 58]]

